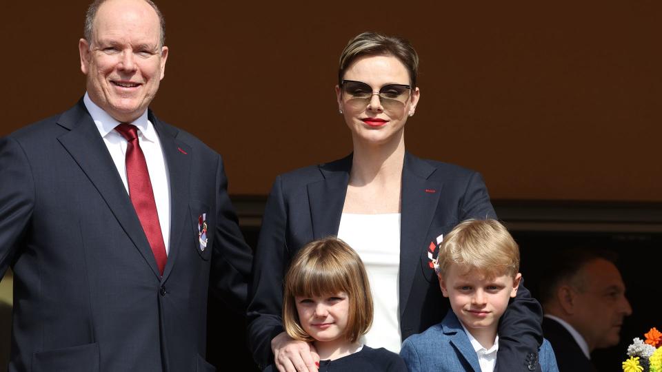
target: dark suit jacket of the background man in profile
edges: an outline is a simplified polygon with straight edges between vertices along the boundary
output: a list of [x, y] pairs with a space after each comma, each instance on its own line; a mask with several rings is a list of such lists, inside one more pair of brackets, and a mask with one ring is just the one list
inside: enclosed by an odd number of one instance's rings
[[568, 329], [551, 318], [543, 318], [543, 335], [556, 351], [556, 362], [561, 372], [596, 371], [591, 360], [581, 351]]

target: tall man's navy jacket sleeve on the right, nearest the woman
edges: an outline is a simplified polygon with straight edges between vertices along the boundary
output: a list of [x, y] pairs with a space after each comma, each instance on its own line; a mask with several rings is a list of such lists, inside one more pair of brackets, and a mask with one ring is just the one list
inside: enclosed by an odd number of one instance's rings
[[214, 231], [210, 285], [230, 309], [244, 314], [248, 303], [252, 252], [239, 229], [237, 214], [228, 196], [228, 178], [220, 156], [216, 183], [217, 229]]

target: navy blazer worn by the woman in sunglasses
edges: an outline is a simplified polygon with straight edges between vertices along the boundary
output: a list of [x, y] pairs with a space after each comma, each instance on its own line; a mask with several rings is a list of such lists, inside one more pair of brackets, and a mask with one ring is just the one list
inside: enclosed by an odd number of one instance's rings
[[[248, 338], [258, 364], [272, 363], [271, 340], [283, 331], [282, 285], [290, 259], [310, 240], [338, 234], [351, 167], [350, 155], [276, 178], [255, 252], [248, 307]], [[441, 322], [448, 309], [448, 300], [441, 295], [437, 275], [430, 268], [430, 243], [436, 245], [437, 236], [463, 220], [495, 217], [480, 174], [405, 153], [399, 276], [403, 340]], [[503, 317], [508, 324], [508, 331], [503, 331], [503, 360], [509, 363], [504, 365], [523, 368], [527, 351], [538, 349], [541, 317], [538, 302], [520, 287]]]

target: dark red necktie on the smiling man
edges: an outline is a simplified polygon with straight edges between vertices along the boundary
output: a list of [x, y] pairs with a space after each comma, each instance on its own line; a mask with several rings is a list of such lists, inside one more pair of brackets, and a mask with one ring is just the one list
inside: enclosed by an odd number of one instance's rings
[[168, 260], [168, 255], [165, 253], [157, 203], [154, 201], [154, 192], [152, 192], [150, 172], [147, 169], [143, 150], [138, 143], [138, 128], [135, 125], [121, 123], [115, 127], [115, 130], [128, 141], [126, 147], [126, 178], [129, 184], [129, 196], [147, 240], [150, 242], [154, 258], [157, 259], [159, 271], [163, 275], [163, 268], [165, 267], [165, 261]]

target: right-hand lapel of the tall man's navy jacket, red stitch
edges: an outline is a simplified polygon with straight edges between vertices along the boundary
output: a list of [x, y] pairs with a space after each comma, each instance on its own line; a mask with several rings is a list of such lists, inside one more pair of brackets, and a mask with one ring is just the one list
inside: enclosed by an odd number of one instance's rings
[[[189, 237], [192, 232], [189, 216], [189, 183], [190, 183], [190, 159], [192, 149], [185, 143], [177, 140], [177, 130], [165, 125], [150, 111], [150, 121], [159, 134], [163, 158], [168, 166], [168, 179], [170, 180], [170, 249], [168, 249], [168, 261], [163, 270], [163, 281], [168, 279], [172, 267], [175, 264], [179, 247], [188, 247], [180, 244], [182, 234]], [[183, 230], [185, 229], [185, 230]]]

